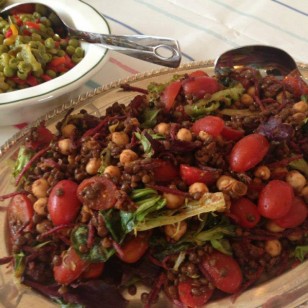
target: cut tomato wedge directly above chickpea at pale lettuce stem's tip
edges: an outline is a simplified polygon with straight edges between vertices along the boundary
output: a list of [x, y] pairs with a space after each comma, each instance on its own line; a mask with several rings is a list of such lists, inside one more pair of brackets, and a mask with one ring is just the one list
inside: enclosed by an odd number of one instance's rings
[[180, 174], [182, 180], [187, 185], [191, 185], [196, 182], [212, 184], [216, 182], [219, 177], [219, 174], [216, 172], [216, 170], [202, 170], [188, 165], [180, 166]]

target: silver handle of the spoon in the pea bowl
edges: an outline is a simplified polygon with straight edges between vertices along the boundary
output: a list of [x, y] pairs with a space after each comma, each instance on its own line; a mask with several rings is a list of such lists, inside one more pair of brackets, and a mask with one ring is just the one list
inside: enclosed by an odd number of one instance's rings
[[169, 38], [147, 35], [105, 35], [72, 28], [69, 28], [69, 35], [158, 65], [178, 67], [181, 62], [179, 43]]

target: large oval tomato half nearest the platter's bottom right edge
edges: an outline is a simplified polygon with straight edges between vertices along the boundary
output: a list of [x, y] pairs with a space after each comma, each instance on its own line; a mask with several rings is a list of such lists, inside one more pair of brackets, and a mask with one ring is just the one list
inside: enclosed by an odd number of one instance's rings
[[201, 271], [217, 289], [226, 293], [238, 291], [243, 281], [238, 263], [231, 256], [217, 250], [203, 257]]

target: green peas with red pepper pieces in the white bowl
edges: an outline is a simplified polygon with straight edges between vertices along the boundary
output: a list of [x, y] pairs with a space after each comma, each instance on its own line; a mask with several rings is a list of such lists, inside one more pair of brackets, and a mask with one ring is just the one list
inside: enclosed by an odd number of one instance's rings
[[0, 93], [56, 78], [83, 57], [80, 41], [55, 33], [39, 4], [33, 13], [0, 17]]

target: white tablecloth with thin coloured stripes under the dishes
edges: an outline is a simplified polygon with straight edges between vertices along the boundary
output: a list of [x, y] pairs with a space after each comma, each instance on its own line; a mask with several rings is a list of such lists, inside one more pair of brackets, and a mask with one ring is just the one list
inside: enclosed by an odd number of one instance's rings
[[[72, 0], [79, 1], [79, 0]], [[308, 1], [302, 0], [83, 0], [108, 21], [113, 34], [175, 38], [182, 63], [215, 59], [243, 45], [272, 45], [308, 62]], [[125, 3], [125, 5], [123, 5]], [[110, 51], [102, 73], [82, 92], [159, 66]], [[1, 124], [1, 123], [0, 123]], [[20, 126], [0, 126], [0, 145]]]

